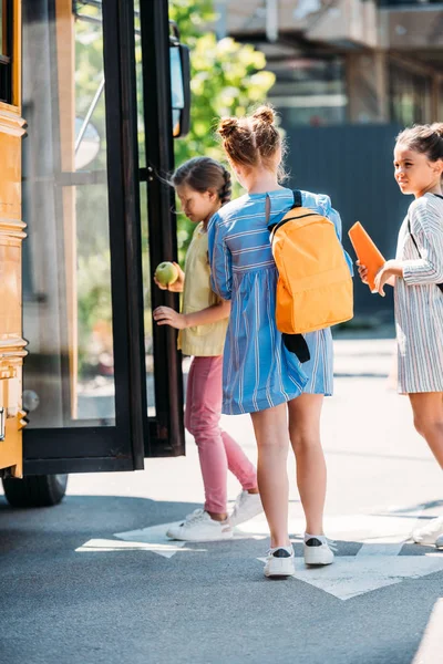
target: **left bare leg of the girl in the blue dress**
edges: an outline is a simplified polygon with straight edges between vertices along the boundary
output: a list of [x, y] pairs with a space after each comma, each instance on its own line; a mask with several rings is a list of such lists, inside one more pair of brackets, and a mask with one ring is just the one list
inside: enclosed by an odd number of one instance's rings
[[286, 404], [251, 413], [258, 447], [257, 479], [270, 546], [288, 547], [288, 417]]

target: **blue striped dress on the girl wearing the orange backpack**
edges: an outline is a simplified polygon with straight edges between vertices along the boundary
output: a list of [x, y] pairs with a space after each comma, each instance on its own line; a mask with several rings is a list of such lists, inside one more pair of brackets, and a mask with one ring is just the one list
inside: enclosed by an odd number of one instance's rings
[[[292, 206], [290, 189], [247, 194], [223, 206], [208, 225], [213, 289], [231, 300], [223, 371], [223, 413], [227, 415], [264, 411], [303, 392], [332, 394], [330, 330], [306, 334], [311, 359], [300, 364], [276, 328], [278, 273], [267, 230], [266, 196], [270, 222]], [[341, 220], [328, 196], [302, 191], [302, 203], [329, 217], [341, 237]]]

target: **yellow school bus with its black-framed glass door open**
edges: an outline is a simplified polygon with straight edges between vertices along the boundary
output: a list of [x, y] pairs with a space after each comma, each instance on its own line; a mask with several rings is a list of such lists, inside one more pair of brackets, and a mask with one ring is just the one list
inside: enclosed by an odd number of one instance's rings
[[167, 0], [0, 0], [0, 476], [54, 505], [69, 473], [184, 454], [173, 330], [174, 136], [189, 60]]

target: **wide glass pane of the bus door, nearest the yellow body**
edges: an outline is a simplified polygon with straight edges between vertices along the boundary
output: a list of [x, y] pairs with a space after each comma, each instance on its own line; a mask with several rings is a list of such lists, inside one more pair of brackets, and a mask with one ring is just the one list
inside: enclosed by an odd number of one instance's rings
[[30, 428], [114, 425], [101, 6], [23, 13], [23, 403]]

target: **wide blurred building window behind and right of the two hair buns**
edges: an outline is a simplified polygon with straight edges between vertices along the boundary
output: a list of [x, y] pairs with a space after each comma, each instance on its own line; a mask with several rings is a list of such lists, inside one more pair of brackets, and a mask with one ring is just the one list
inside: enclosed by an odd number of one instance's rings
[[269, 101], [281, 114], [284, 126], [343, 124], [347, 118], [344, 62], [296, 58], [272, 62], [276, 83]]

